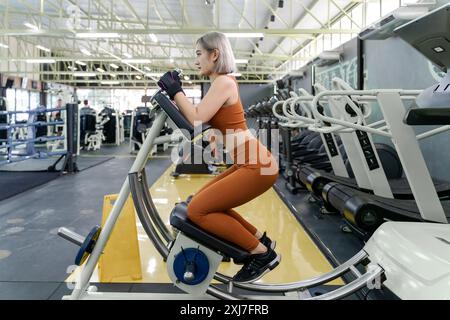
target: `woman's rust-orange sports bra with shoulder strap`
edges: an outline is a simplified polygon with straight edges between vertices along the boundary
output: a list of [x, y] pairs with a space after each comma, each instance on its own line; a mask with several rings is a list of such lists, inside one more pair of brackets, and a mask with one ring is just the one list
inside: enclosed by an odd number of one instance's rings
[[[233, 76], [228, 76], [232, 78], [236, 85], [236, 78]], [[239, 96], [239, 86], [238, 86], [238, 101], [232, 105], [227, 105], [221, 107], [219, 111], [209, 120], [209, 124], [220, 130], [220, 132], [225, 135], [227, 129], [232, 130], [248, 130], [247, 122], [245, 121], [244, 108], [241, 103], [241, 98]]]

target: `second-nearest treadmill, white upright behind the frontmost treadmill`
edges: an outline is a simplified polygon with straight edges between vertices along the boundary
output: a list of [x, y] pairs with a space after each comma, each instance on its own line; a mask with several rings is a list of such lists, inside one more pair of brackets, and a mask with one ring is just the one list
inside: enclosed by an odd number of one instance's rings
[[[333, 81], [338, 83], [339, 87], [343, 87], [344, 90], [353, 90], [353, 88], [341, 79], [333, 79]], [[343, 99], [346, 101], [333, 102], [333, 115], [335, 118], [344, 116], [349, 121], [353, 121], [356, 116], [353, 108], [364, 109], [360, 104], [354, 101], [350, 95], [344, 96]], [[350, 104], [353, 105], [353, 108]], [[320, 113], [323, 114], [323, 112]], [[351, 173], [350, 177], [341, 176], [333, 172], [317, 170], [311, 166], [303, 165], [297, 172], [298, 180], [301, 181], [313, 195], [323, 198], [324, 200], [326, 200], [326, 197], [323, 197], [324, 192], [326, 192], [324, 187], [331, 182], [389, 198], [414, 199], [407, 179], [402, 177], [403, 168], [395, 149], [386, 144], [373, 143], [372, 137], [368, 132], [355, 130], [352, 134], [354, 137], [343, 137], [341, 134], [335, 135], [336, 137], [340, 136], [343, 139], [345, 148], [348, 148], [348, 158], [351, 165], [351, 168], [348, 169], [355, 169], [354, 174], [352, 170], [349, 170]], [[348, 133], [346, 133], [346, 135], [348, 135]], [[362, 155], [360, 155], [360, 153]], [[433, 179], [433, 182], [439, 197], [442, 199], [449, 199], [450, 183], [439, 179]], [[329, 208], [329, 206], [327, 206], [327, 208]]]

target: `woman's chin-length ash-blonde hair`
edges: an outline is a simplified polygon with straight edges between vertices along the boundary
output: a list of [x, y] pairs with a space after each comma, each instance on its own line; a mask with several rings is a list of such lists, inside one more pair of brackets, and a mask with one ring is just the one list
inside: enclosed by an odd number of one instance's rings
[[228, 38], [221, 32], [208, 32], [201, 36], [196, 44], [207, 51], [217, 49], [219, 57], [217, 58], [213, 71], [218, 74], [227, 74], [236, 71], [236, 62], [231, 44]]

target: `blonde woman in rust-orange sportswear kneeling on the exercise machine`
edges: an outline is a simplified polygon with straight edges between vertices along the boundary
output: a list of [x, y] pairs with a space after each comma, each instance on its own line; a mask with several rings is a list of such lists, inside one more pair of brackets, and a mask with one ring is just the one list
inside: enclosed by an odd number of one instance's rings
[[248, 130], [239, 97], [231, 45], [222, 33], [209, 32], [197, 40], [196, 66], [211, 87], [198, 105], [184, 95], [176, 72], [164, 74], [158, 85], [175, 101], [193, 124], [208, 122], [222, 134], [233, 166], [203, 186], [188, 205], [189, 219], [202, 229], [235, 243], [251, 255], [233, 281], [248, 283], [274, 269], [281, 256], [275, 241], [246, 221], [233, 208], [243, 205], [273, 186], [278, 164], [272, 154]]

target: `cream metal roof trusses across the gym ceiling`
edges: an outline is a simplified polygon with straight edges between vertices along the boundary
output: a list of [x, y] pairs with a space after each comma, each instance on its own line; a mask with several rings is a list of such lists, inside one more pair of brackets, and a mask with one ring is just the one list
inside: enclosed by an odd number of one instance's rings
[[[135, 3], [142, 4], [137, 7]], [[240, 82], [272, 82], [274, 76], [281, 75], [280, 66], [293, 60], [307, 60], [310, 57], [293, 58], [293, 53], [321, 34], [351, 34], [359, 29], [332, 29], [330, 24], [340, 16], [348, 16], [352, 6], [361, 0], [352, 1], [350, 5], [341, 7], [336, 0], [286, 0], [285, 6], [302, 10], [302, 15], [293, 18], [283, 16], [277, 8], [278, 1], [261, 0], [253, 2], [254, 21], [247, 17], [239, 6], [239, 0], [216, 0], [211, 18], [212, 25], [199, 27], [193, 23], [188, 14], [189, 6], [194, 0], [156, 1], [156, 0], [4, 0], [0, 3], [0, 43], [10, 46], [7, 50], [0, 49], [0, 59], [4, 63], [0, 73], [19, 76], [37, 76], [42, 81], [53, 81], [73, 85], [91, 86], [101, 80], [117, 80], [120, 87], [153, 86], [155, 77], [147, 73], [160, 73], [171, 68], [181, 68], [192, 85], [204, 81], [197, 75], [194, 65], [194, 43], [196, 37], [208, 31], [216, 30], [224, 33], [262, 33], [264, 40], [273, 44], [270, 50], [262, 50], [256, 39], [247, 39], [247, 49], [236, 49], [238, 59], [247, 59], [245, 65], [238, 65]], [[203, 1], [200, 1], [203, 3]], [[214, 1], [212, 1], [214, 2]], [[313, 7], [319, 2], [328, 3], [338, 9], [338, 14], [329, 16], [326, 21], [313, 12]], [[80, 5], [82, 3], [82, 5]], [[258, 4], [257, 4], [258, 3]], [[177, 6], [174, 10], [173, 6]], [[265, 16], [273, 16], [281, 26], [268, 28], [261, 26], [257, 20], [256, 11], [265, 11]], [[76, 14], [68, 8], [79, 10]], [[236, 15], [239, 25], [230, 28], [226, 25], [225, 13]], [[117, 8], [120, 8], [118, 10]], [[264, 16], [264, 15], [263, 15]], [[311, 17], [317, 27], [298, 27], [305, 17]], [[28, 21], [37, 26], [32, 30], [23, 25]], [[67, 23], [61, 24], [61, 21]], [[264, 24], [264, 23], [263, 23]], [[356, 22], [355, 22], [355, 25]], [[358, 26], [359, 27], [359, 26]], [[117, 38], [83, 38], [78, 33], [115, 33]], [[153, 42], [149, 34], [162, 37], [164, 40]], [[10, 41], [14, 38], [15, 44]], [[290, 41], [287, 49], [283, 41]], [[51, 48], [51, 53], [33, 50], [36, 45], [45, 43]], [[14, 48], [12, 48], [15, 46]], [[31, 49], [30, 49], [31, 48]], [[80, 50], [89, 50], [92, 55], [83, 55]], [[14, 49], [14, 50], [11, 50]], [[125, 63], [124, 54], [130, 54], [134, 59], [150, 59], [150, 63]], [[25, 68], [29, 59], [52, 58], [56, 62], [36, 64]], [[75, 61], [82, 61], [86, 66], [80, 66]], [[110, 67], [114, 63], [118, 70]], [[76, 72], [94, 72], [95, 76], [78, 78]], [[97, 68], [105, 70], [97, 72]], [[23, 70], [27, 70], [24, 72]], [[137, 79], [136, 76], [141, 76]]]

